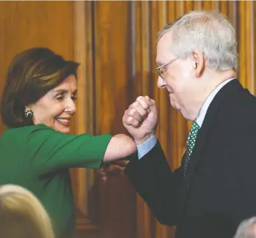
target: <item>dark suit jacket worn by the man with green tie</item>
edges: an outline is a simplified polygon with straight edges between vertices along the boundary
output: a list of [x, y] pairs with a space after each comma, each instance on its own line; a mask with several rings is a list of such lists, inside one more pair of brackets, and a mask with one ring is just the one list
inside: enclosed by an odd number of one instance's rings
[[[182, 163], [184, 161], [182, 160]], [[256, 98], [238, 80], [214, 97], [183, 179], [159, 142], [125, 171], [157, 219], [177, 238], [231, 238], [256, 216]]]

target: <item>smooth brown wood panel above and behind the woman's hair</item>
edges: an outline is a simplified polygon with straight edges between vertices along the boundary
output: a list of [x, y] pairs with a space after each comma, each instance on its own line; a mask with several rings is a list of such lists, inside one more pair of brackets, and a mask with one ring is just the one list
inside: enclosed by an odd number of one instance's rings
[[26, 48], [48, 47], [73, 59], [72, 16], [71, 2], [0, 2], [0, 93], [10, 61]]

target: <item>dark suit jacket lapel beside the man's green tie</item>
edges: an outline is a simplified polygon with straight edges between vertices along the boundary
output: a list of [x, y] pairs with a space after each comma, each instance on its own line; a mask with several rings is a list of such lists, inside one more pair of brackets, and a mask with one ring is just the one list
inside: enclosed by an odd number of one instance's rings
[[205, 142], [207, 141], [207, 137], [211, 136], [211, 130], [214, 128], [213, 122], [218, 115], [219, 108], [222, 106], [223, 100], [225, 100], [225, 98], [227, 97], [230, 97], [230, 93], [233, 93], [235, 90], [238, 89], [243, 89], [238, 80], [235, 79], [233, 81], [230, 81], [229, 83], [224, 85], [223, 88], [216, 94], [216, 96], [213, 98], [213, 101], [211, 102], [211, 105], [208, 108], [204, 122], [202, 123], [202, 127], [197, 134], [197, 140], [191, 154], [189, 165], [186, 168], [186, 176], [183, 180], [183, 185], [180, 188], [180, 209], [178, 213], [178, 220], [180, 219], [180, 217], [182, 217], [183, 209], [186, 204], [186, 198], [189, 194], [191, 181], [195, 172], [197, 171], [197, 167], [200, 164], [201, 154], [204, 149]]

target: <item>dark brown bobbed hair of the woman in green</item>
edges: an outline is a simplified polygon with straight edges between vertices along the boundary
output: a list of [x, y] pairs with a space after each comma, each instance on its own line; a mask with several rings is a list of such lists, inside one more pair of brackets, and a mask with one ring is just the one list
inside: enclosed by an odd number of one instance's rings
[[66, 61], [48, 48], [31, 48], [12, 59], [1, 95], [1, 116], [7, 127], [32, 125], [25, 106], [36, 103], [69, 75], [76, 76], [79, 64]]

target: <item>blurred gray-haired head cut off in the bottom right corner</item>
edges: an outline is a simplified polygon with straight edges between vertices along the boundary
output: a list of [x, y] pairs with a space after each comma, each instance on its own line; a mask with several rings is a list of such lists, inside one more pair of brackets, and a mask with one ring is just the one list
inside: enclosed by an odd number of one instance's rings
[[256, 217], [243, 220], [234, 238], [256, 238]]

